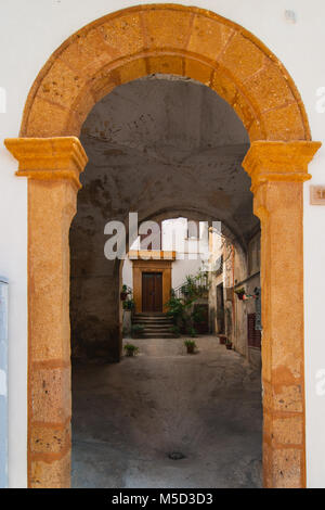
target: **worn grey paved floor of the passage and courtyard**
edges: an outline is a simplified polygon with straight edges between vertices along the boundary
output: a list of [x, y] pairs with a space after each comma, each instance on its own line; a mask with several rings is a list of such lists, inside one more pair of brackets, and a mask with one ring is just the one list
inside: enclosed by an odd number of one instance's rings
[[73, 486], [259, 487], [260, 379], [244, 358], [213, 336], [196, 355], [132, 343], [136, 358], [74, 367]]

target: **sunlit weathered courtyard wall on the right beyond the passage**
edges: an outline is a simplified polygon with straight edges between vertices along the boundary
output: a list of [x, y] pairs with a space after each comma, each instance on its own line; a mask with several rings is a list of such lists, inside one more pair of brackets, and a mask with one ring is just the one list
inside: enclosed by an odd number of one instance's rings
[[209, 309], [210, 329], [224, 335], [252, 367], [261, 369], [260, 232], [247, 251], [211, 232]]

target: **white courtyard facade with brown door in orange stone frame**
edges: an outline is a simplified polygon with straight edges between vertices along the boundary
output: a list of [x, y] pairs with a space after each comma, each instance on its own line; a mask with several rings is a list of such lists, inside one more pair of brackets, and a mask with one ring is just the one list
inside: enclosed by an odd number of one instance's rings
[[123, 262], [122, 283], [133, 291], [136, 313], [167, 311], [171, 290], [196, 276], [209, 257], [208, 224], [187, 218], [161, 222], [148, 245], [139, 238]]

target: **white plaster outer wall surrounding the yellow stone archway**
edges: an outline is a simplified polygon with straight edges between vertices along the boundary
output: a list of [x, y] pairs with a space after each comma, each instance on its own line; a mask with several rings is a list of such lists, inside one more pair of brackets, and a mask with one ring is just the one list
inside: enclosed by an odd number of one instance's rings
[[[1, 0], [0, 87], [8, 94], [0, 113], [0, 136], [18, 133], [28, 90], [50, 54], [74, 31], [109, 12], [139, 3], [131, 0]], [[284, 63], [302, 95], [313, 139], [325, 138], [325, 114], [315, 111], [316, 89], [325, 86], [325, 2], [323, 0], [183, 0], [174, 3], [210, 9], [259, 37]], [[285, 20], [292, 9], [297, 23]], [[311, 165], [312, 183], [324, 183], [325, 149]], [[26, 484], [26, 182], [0, 148], [0, 273], [10, 281], [10, 450], [11, 486]], [[316, 373], [325, 368], [325, 207], [304, 195], [306, 380], [308, 485], [325, 487], [325, 395], [316, 394]], [[289, 313], [289, 310], [288, 310]]]

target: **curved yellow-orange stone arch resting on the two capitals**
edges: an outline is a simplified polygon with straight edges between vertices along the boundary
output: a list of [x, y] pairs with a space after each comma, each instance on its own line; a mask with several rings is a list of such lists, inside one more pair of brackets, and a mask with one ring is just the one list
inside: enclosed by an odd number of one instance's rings
[[179, 4], [118, 11], [69, 37], [32, 85], [21, 136], [78, 136], [114, 87], [152, 73], [187, 76], [216, 90], [251, 141], [311, 139], [300, 95], [276, 56], [235, 23]]

